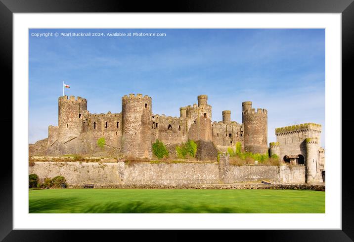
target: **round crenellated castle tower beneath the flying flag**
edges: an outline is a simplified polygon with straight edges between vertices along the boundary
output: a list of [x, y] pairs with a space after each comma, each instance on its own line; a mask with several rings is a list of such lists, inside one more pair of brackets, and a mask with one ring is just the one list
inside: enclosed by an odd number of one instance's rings
[[66, 142], [83, 133], [83, 113], [87, 111], [87, 100], [62, 96], [58, 104], [58, 140]]

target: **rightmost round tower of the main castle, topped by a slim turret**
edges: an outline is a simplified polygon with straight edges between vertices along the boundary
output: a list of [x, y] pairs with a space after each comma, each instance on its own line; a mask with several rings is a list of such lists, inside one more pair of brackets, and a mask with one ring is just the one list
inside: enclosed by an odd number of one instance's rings
[[267, 110], [252, 108], [251, 102], [242, 103], [242, 120], [244, 124], [245, 151], [268, 153], [267, 146]]

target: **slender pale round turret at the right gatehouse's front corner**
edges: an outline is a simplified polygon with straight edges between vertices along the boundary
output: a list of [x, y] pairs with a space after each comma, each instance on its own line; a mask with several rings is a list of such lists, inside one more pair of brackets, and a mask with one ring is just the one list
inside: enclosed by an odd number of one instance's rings
[[319, 182], [318, 139], [307, 138], [306, 142], [306, 182]]

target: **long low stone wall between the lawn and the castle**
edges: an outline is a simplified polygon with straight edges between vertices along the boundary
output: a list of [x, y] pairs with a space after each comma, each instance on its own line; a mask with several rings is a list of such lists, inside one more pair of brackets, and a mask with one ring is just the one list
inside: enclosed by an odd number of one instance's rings
[[[218, 164], [150, 164], [125, 165], [97, 162], [36, 162], [29, 173], [45, 177], [62, 175], [69, 185], [194, 185], [269, 180], [273, 183], [305, 182], [305, 166], [228, 166], [222, 173]], [[224, 181], [224, 182], [223, 182]]]

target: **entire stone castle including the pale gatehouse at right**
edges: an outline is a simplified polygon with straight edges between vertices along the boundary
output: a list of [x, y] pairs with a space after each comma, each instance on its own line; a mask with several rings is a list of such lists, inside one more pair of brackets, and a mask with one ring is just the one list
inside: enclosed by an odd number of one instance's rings
[[269, 151], [269, 155], [276, 154], [283, 163], [306, 165], [308, 181], [322, 181], [321, 125], [277, 128], [277, 142], [270, 143], [268, 149], [267, 110], [253, 108], [252, 102], [242, 103], [242, 124], [231, 121], [230, 110], [222, 111], [222, 121], [212, 122], [207, 95], [198, 96], [198, 104], [180, 107], [179, 111], [179, 117], [153, 114], [151, 97], [130, 94], [122, 98], [121, 113], [93, 114], [87, 110], [86, 99], [62, 96], [58, 99], [58, 126], [49, 126], [48, 138], [30, 145], [30, 153], [92, 154], [99, 150], [97, 140], [104, 137], [105, 147], [114, 155], [152, 158], [152, 143], [156, 139], [172, 147], [192, 139], [215, 149], [209, 157], [199, 157], [206, 159], [216, 158], [217, 151], [240, 142], [246, 152]]

